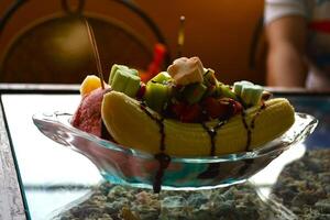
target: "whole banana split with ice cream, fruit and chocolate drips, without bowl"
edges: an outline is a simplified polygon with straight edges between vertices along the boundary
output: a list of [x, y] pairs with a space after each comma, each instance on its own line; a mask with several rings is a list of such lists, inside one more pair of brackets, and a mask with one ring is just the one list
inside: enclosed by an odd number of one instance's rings
[[251, 81], [226, 85], [198, 57], [177, 58], [147, 81], [136, 69], [116, 64], [108, 84], [100, 81], [86, 77], [72, 124], [153, 154], [160, 162], [154, 186], [161, 185], [170, 157], [249, 152], [280, 136], [295, 121], [287, 99], [272, 98]]

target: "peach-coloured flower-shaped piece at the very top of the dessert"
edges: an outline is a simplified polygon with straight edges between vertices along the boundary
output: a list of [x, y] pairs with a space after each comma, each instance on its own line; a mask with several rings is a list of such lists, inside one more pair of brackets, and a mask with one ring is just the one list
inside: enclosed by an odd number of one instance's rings
[[202, 82], [204, 67], [198, 57], [175, 59], [167, 72], [177, 85]]

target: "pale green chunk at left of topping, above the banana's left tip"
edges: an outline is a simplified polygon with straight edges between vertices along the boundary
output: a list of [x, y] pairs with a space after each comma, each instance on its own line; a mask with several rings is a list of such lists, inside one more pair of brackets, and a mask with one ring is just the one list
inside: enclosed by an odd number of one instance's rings
[[138, 70], [123, 65], [112, 66], [109, 84], [114, 91], [121, 91], [134, 98], [140, 89], [140, 82]]

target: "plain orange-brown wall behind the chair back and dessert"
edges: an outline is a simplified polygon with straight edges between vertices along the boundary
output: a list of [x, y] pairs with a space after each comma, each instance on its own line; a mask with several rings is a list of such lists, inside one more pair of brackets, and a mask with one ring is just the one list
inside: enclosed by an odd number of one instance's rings
[[[1, 14], [11, 2], [1, 1]], [[24, 32], [40, 18], [63, 13], [59, 2], [30, 0], [18, 10], [0, 35], [0, 56], [3, 56], [18, 33]], [[224, 82], [240, 79], [264, 82], [263, 44], [257, 44], [256, 68], [251, 69], [249, 66], [252, 35], [262, 15], [263, 0], [136, 0], [135, 3], [158, 24], [168, 42], [172, 58], [177, 54], [179, 16], [185, 15], [185, 56], [199, 56], [205, 66], [213, 68], [218, 78]], [[86, 0], [85, 10], [94, 15], [123, 19], [153, 38], [136, 16], [111, 0]]]

